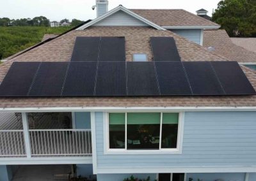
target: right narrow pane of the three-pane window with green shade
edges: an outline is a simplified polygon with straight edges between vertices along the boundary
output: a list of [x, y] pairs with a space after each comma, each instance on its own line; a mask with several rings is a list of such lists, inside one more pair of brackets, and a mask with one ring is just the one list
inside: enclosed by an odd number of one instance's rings
[[163, 113], [161, 148], [177, 148], [179, 113]]

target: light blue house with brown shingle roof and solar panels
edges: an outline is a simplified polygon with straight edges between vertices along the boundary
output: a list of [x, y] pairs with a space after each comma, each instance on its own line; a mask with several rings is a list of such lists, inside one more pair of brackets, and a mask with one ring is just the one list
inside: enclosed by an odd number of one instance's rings
[[198, 45], [220, 26], [106, 10], [0, 65], [0, 180], [70, 164], [99, 181], [254, 181], [255, 71]]

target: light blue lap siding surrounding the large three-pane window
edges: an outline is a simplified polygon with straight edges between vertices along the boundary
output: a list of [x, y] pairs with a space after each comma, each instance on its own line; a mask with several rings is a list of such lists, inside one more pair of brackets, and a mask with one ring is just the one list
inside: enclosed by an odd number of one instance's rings
[[98, 167], [256, 164], [256, 112], [187, 112], [182, 154], [174, 155], [104, 155], [102, 113], [96, 129]]

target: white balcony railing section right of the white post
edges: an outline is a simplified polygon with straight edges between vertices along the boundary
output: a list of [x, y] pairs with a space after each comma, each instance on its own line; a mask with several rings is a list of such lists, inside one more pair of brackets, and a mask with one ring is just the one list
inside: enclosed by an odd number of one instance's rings
[[30, 129], [31, 156], [92, 156], [90, 129]]

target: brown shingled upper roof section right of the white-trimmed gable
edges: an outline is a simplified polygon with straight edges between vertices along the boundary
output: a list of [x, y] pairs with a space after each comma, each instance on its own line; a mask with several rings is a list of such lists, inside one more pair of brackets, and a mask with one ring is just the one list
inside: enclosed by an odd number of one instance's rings
[[185, 10], [131, 10], [163, 27], [220, 27], [220, 25]]

